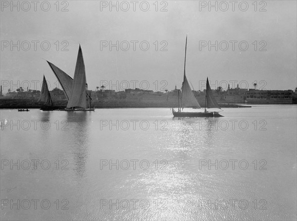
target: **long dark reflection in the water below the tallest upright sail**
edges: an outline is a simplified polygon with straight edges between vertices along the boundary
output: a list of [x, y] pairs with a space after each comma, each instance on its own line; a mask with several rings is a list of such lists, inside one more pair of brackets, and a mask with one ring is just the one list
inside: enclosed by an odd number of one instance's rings
[[78, 177], [84, 177], [88, 160], [89, 126], [91, 113], [88, 111], [67, 111], [67, 123], [71, 131], [71, 147], [75, 173]]

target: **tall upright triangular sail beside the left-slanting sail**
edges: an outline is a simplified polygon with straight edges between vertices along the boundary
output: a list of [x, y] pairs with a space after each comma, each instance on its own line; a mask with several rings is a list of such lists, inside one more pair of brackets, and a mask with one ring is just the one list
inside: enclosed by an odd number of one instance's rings
[[80, 46], [76, 60], [71, 95], [67, 108], [87, 108], [86, 70]]

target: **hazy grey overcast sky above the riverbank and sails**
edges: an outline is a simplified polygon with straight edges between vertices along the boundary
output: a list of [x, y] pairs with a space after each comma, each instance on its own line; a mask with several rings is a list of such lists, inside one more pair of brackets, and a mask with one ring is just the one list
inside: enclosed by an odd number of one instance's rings
[[[17, 4], [18, 1], [13, 2]], [[247, 82], [249, 88], [253, 88], [252, 83], [257, 82], [258, 89], [268, 90], [294, 90], [297, 87], [295, 0], [258, 1], [256, 11], [254, 1], [247, 1], [246, 11], [246, 5], [239, 6], [239, 3], [235, 4], [233, 11], [230, 1], [227, 1], [229, 8], [226, 11], [223, 11], [226, 4], [219, 4], [220, 1], [217, 1], [218, 11], [214, 7], [209, 11], [208, 5], [199, 9], [199, 5], [204, 6], [208, 1], [193, 0], [159, 1], [157, 11], [155, 1], [148, 1], [148, 11], [143, 11], [147, 7], [143, 1], [136, 3], [135, 11], [131, 1], [127, 1], [130, 5], [128, 11], [123, 11], [127, 3], [121, 4], [121, 1], [119, 11], [116, 11], [116, 7], [110, 11], [108, 5], [100, 8], [109, 1], [65, 1], [60, 2], [58, 11], [56, 1], [49, 1], [48, 11], [44, 11], [48, 5], [43, 1], [37, 3], [36, 11], [34, 3], [28, 2], [31, 6], [29, 10], [28, 4], [21, 5], [20, 2], [20, 11], [17, 11], [17, 7], [10, 7], [11, 1], [1, 0], [1, 85], [9, 81], [9, 86], [3, 88], [4, 92], [8, 88], [13, 91], [17, 89], [10, 85], [11, 81], [14, 84], [29, 81], [31, 89], [34, 89], [33, 81], [38, 80], [37, 89], [40, 90], [43, 74], [50, 83], [49, 89], [53, 89], [56, 78], [46, 60], [73, 77], [79, 44], [84, 55], [89, 89], [95, 90], [103, 80], [112, 80], [114, 84], [117, 80], [126, 80], [130, 82], [130, 87], [133, 86], [131, 81], [147, 81], [149, 90], [156, 89], [156, 81], [160, 90], [165, 85], [161, 81], [165, 80], [168, 82], [166, 89], [172, 90], [175, 85], [180, 88], [187, 34], [186, 74], [195, 90], [205, 89], [201, 87], [201, 81], [205, 82], [207, 76], [212, 89], [216, 86], [225, 88], [225, 82], [231, 82], [232, 86], [234, 81], [242, 82], [242, 87], [246, 87]], [[116, 4], [116, 1], [113, 3]], [[63, 7], [68, 11], [61, 11]], [[11, 43], [17, 44], [18, 41], [20, 51], [17, 51], [17, 47], [11, 50]], [[28, 51], [25, 51], [28, 48], [25, 41], [31, 45]], [[39, 41], [36, 51], [32, 41]], [[48, 51], [47, 44], [43, 45], [43, 49], [41, 47], [44, 41], [50, 44]], [[62, 41], [66, 42], [62, 45]], [[119, 51], [116, 51], [116, 47], [111, 51], [109, 47], [100, 50], [100, 44], [104, 44], [104, 41], [108, 44], [110, 41], [113, 44], [128, 41], [130, 49], [123, 51], [127, 44], [122, 43]], [[131, 41], [138, 41], [135, 51]], [[146, 44], [142, 45], [143, 50], [140, 48], [143, 41], [149, 43], [147, 51], [143, 51]], [[210, 51], [208, 47], [199, 49], [199, 45], [208, 44], [209, 41], [211, 44], [218, 41], [218, 51], [215, 51], [215, 47], [211, 47]], [[224, 41], [229, 44], [226, 51], [223, 51], [226, 48]], [[230, 41], [237, 41], [234, 51]], [[246, 51], [245, 44], [241, 44], [242, 50], [239, 47], [242, 41], [248, 43]], [[63, 46], [68, 51], [62, 51]], [[160, 51], [163, 46], [167, 51]], [[260, 51], [260, 48], [266, 51]], [[26, 87], [26, 84], [23, 86]], [[136, 83], [136, 87], [139, 86]], [[145, 84], [142, 86], [146, 88]]]

